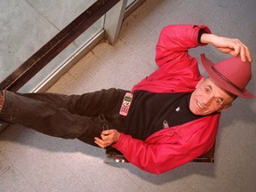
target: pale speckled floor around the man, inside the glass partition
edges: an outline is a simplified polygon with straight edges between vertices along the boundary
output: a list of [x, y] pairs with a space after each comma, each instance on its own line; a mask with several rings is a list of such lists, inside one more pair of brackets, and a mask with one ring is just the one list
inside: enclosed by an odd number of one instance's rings
[[[212, 33], [239, 37], [255, 57], [254, 0], [148, 0], [124, 21], [118, 42], [102, 41], [49, 92], [83, 93], [101, 88], [131, 89], [152, 72], [155, 45], [167, 24], [206, 24]], [[212, 60], [223, 58], [210, 45]], [[249, 89], [255, 93], [255, 63]], [[104, 164], [104, 151], [78, 140], [62, 140], [12, 125], [0, 136], [0, 191], [218, 191], [256, 188], [256, 100], [236, 100], [220, 122], [215, 164], [189, 163], [154, 175], [132, 164]]]

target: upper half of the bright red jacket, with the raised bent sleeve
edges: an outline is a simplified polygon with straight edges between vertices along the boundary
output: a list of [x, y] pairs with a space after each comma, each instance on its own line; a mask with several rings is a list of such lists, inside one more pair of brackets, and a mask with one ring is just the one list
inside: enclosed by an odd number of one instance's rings
[[197, 60], [188, 54], [200, 44], [200, 31], [211, 33], [205, 26], [169, 25], [162, 29], [156, 44], [156, 64], [159, 68], [135, 84], [132, 92], [189, 92], [202, 78]]

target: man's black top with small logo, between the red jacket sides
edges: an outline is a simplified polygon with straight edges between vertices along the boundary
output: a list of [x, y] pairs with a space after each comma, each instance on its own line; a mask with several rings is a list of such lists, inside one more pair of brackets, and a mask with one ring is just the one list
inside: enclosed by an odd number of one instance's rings
[[124, 133], [146, 140], [163, 128], [200, 118], [201, 116], [196, 116], [189, 110], [190, 96], [191, 92], [134, 92], [132, 106], [124, 120]]

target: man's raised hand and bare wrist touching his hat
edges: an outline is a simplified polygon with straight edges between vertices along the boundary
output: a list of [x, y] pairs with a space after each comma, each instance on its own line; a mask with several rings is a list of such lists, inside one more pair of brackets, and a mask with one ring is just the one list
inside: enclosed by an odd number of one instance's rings
[[229, 53], [236, 57], [240, 55], [241, 60], [252, 61], [252, 55], [249, 48], [243, 44], [239, 39], [228, 38], [222, 36], [215, 36], [213, 34], [203, 34], [201, 36], [201, 43], [212, 44], [220, 52]]

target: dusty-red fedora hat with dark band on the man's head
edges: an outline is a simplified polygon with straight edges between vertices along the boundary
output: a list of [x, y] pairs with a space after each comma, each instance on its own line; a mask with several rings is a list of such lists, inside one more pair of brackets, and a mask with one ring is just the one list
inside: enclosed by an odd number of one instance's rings
[[243, 62], [240, 57], [232, 57], [214, 64], [204, 54], [200, 55], [204, 69], [215, 84], [224, 90], [243, 98], [256, 98], [245, 86], [252, 78], [251, 62]]

